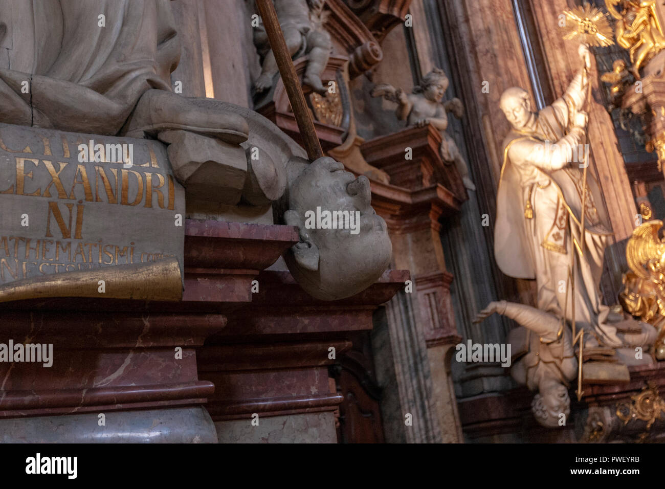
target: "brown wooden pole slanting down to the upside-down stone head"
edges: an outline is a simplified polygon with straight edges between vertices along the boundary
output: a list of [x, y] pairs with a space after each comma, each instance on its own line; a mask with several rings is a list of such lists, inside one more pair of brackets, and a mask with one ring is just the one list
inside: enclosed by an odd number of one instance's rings
[[307, 157], [312, 162], [323, 156], [323, 150], [321, 150], [321, 143], [317, 137], [312, 114], [307, 107], [300, 80], [298, 79], [297, 73], [295, 73], [295, 67], [293, 66], [293, 61], [291, 61], [291, 55], [289, 54], [289, 50], [284, 41], [282, 28], [279, 27], [279, 19], [277, 19], [275, 5], [273, 5], [272, 0], [256, 0], [256, 6], [259, 9], [261, 19], [263, 20], [263, 26], [265, 27], [265, 33], [268, 35], [270, 47], [275, 55], [275, 60], [277, 61], [277, 67], [279, 68], [279, 74], [282, 77], [284, 88], [287, 90], [287, 96], [289, 96], [289, 102], [291, 102], [293, 115], [298, 124], [300, 136], [303, 138], [305, 150], [307, 150]]

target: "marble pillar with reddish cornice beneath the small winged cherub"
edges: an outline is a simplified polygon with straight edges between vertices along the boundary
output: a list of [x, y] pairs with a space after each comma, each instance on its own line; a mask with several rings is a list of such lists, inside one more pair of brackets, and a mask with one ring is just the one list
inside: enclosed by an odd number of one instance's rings
[[[409, 288], [404, 287], [403, 295], [393, 299], [387, 309], [402, 424], [404, 416], [412, 414], [413, 429], [404, 432], [410, 442], [462, 442], [449, 356], [460, 336], [452, 311], [452, 275], [446, 271], [440, 220], [459, 212], [467, 196], [459, 174], [444, 166], [440, 144], [439, 132], [426, 126], [406, 128], [361, 146], [367, 162], [391, 176], [390, 185], [372, 182], [372, 205], [388, 224], [394, 266], [409, 269], [412, 277]], [[406, 146], [412, 148], [413, 160], [404, 160]], [[375, 357], [388, 352], [386, 343], [375, 346]], [[388, 365], [377, 365], [377, 371], [380, 384], [391, 378]], [[384, 418], [394, 420], [395, 408], [392, 410]], [[393, 428], [392, 434], [402, 432], [397, 424]], [[386, 438], [390, 439], [388, 433]]]

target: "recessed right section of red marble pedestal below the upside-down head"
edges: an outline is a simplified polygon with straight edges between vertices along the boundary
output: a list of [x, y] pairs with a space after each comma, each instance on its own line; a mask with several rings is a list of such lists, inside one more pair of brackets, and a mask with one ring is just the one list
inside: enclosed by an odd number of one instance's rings
[[336, 442], [342, 397], [329, 366], [372, 329], [372, 313], [404, 285], [389, 270], [341, 301], [307, 295], [288, 272], [263, 271], [251, 305], [229, 311], [225, 329], [198, 356], [199, 375], [215, 384], [206, 408], [220, 442]]

